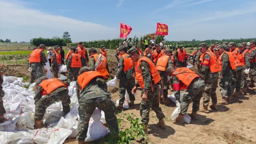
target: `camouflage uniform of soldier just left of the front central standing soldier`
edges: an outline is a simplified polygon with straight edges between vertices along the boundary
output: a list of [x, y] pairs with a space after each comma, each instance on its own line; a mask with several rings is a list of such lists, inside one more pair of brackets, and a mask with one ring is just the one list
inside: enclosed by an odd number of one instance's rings
[[119, 103], [122, 104], [125, 100], [125, 90], [127, 90], [127, 93], [129, 95], [130, 101], [135, 101], [134, 95], [131, 93], [131, 90], [135, 86], [135, 79], [132, 77], [132, 74], [128, 74], [126, 77], [126, 72], [123, 72], [124, 68], [124, 59], [123, 57], [120, 57], [118, 66], [117, 66], [117, 73], [116, 78], [119, 79]]

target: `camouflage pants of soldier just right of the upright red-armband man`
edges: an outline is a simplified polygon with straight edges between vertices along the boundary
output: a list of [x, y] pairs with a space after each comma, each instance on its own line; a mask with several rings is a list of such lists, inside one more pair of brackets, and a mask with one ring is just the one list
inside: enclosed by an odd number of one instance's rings
[[219, 80], [219, 91], [221, 92], [222, 97], [231, 96], [232, 95], [232, 87], [231, 87], [231, 77], [232, 73], [224, 72], [223, 78]]

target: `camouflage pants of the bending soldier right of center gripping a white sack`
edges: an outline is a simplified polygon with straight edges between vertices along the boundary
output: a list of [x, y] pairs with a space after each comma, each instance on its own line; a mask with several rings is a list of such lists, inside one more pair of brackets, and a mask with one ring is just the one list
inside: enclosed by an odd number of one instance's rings
[[200, 99], [203, 96], [204, 88], [205, 88], [205, 84], [201, 78], [195, 78], [191, 82], [188, 89], [184, 93], [183, 98], [181, 99], [181, 103], [180, 103], [181, 114], [187, 113], [187, 109], [189, 108], [189, 104], [191, 100], [193, 102], [192, 110], [193, 111], [199, 110]]

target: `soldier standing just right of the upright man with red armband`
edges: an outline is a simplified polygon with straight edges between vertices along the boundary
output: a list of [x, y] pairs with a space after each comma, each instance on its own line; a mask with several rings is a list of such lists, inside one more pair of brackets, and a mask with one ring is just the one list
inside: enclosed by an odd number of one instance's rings
[[229, 52], [228, 45], [218, 45], [216, 50], [218, 50], [220, 56], [218, 58], [219, 65], [221, 66], [221, 72], [219, 74], [219, 90], [221, 92], [221, 101], [218, 102], [219, 105], [227, 105], [228, 101], [231, 101], [232, 87], [231, 87], [231, 77], [233, 72], [236, 70], [234, 57], [232, 52]]

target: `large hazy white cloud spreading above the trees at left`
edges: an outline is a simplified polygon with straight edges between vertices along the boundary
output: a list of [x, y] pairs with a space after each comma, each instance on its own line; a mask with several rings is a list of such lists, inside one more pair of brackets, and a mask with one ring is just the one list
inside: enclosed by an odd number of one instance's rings
[[73, 42], [119, 37], [118, 28], [44, 13], [24, 4], [0, 1], [0, 39], [29, 41], [34, 37], [62, 37], [64, 31], [70, 33]]

